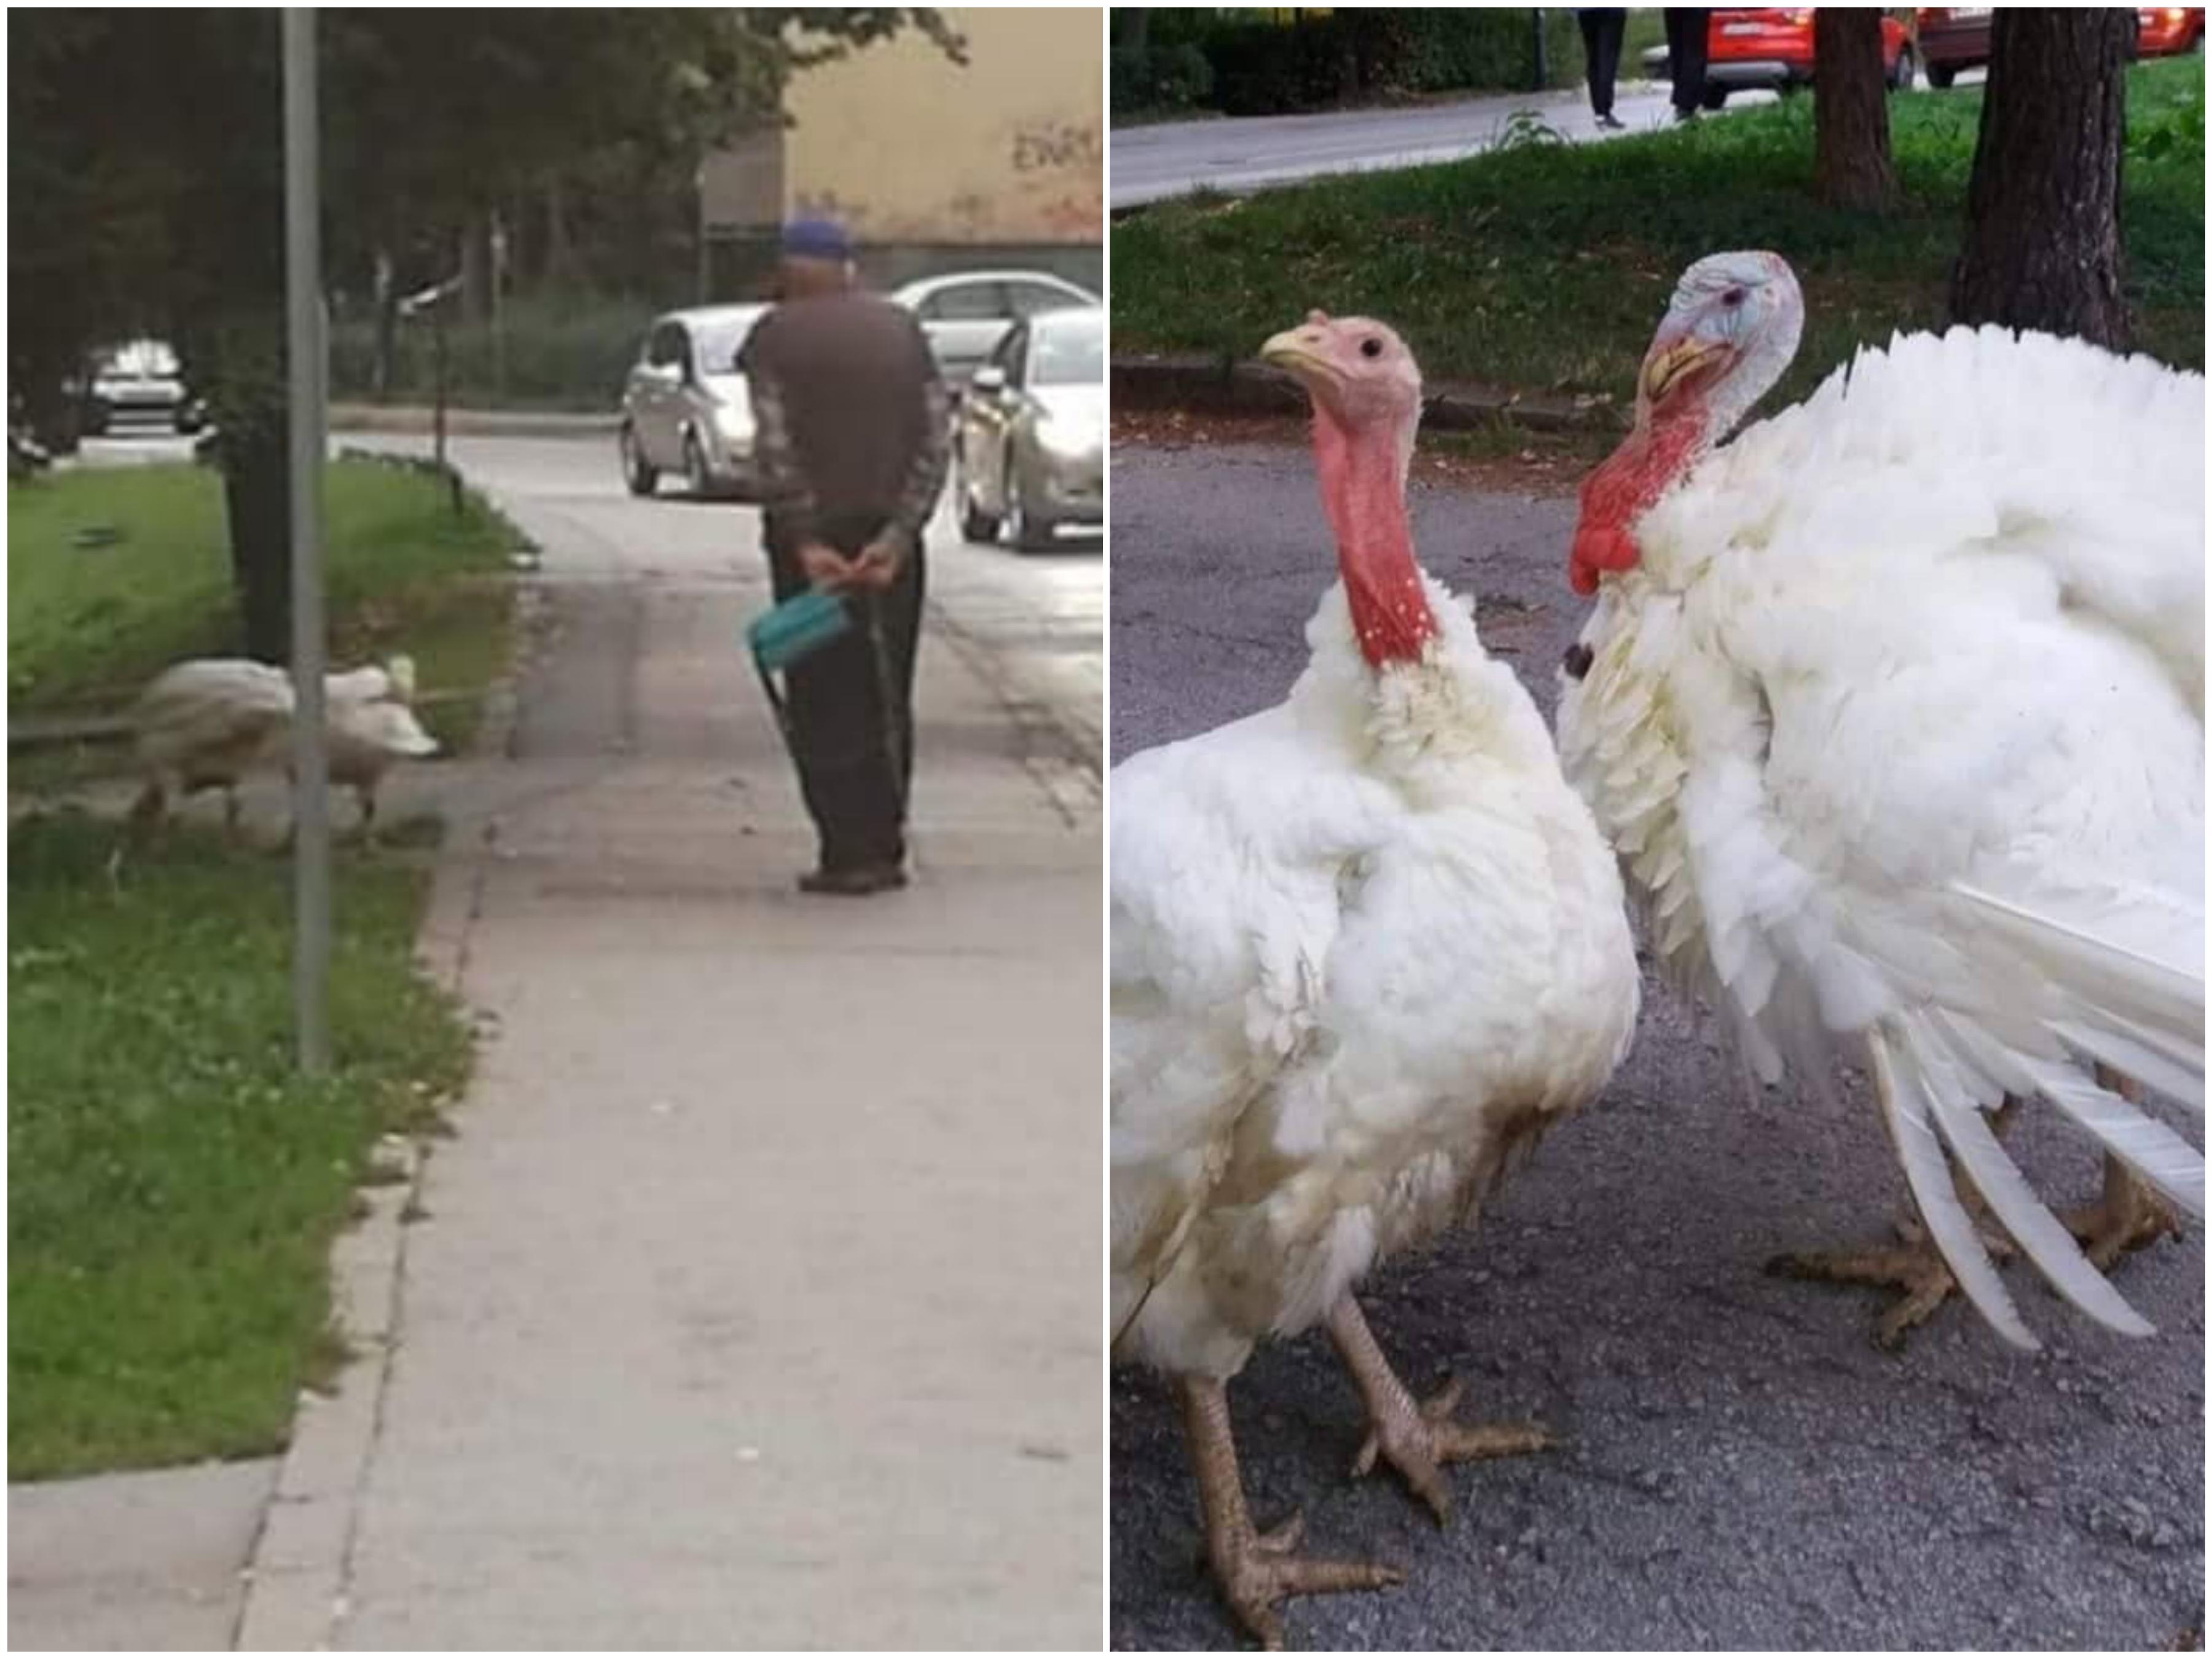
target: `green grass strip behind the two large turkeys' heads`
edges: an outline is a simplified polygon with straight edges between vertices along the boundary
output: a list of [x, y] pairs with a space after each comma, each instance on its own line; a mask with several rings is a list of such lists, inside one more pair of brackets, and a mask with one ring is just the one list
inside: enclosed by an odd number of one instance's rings
[[[1944, 321], [1980, 93], [1896, 97], [1900, 212], [1812, 201], [1812, 100], [1613, 144], [1192, 199], [1113, 230], [1115, 347], [1245, 358], [1312, 307], [1396, 323], [1433, 378], [1626, 398], [1677, 274], [1774, 248], [1805, 285], [1783, 396], [1867, 341]], [[2137, 349], [2203, 367], [2203, 58], [2128, 82], [2121, 226]]]

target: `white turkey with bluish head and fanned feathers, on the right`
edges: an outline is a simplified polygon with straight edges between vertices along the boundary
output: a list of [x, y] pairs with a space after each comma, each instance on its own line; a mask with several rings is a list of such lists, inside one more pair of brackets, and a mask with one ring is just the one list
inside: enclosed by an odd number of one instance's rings
[[[1801, 321], [1765, 252], [1674, 290], [1584, 484], [1562, 759], [1756, 1075], [1871, 1073], [1920, 1225], [1776, 1270], [1900, 1285], [1882, 1345], [1955, 1285], [2033, 1347], [1995, 1243], [2143, 1334], [2099, 1270], [2177, 1230], [2152, 1188], [2203, 1214], [2203, 1152], [2137, 1104], [2203, 1110], [2203, 378], [1911, 334], [1719, 447]], [[2095, 1137], [2099, 1203], [2022, 1177], [2028, 1097]]]

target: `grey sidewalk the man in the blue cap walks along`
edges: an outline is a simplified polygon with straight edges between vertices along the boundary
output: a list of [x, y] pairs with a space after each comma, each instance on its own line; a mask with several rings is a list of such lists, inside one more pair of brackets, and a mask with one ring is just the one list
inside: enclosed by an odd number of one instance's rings
[[489, 1035], [239, 1646], [1093, 1648], [1095, 776], [933, 628], [916, 885], [803, 898], [759, 560], [507, 507], [555, 633], [431, 922]]

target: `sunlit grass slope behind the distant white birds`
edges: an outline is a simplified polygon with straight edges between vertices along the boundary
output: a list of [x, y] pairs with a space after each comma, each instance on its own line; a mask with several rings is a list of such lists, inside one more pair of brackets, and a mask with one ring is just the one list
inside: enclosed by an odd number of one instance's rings
[[[482, 500], [456, 518], [427, 476], [334, 462], [325, 522], [334, 661], [409, 650], [431, 699], [498, 672], [518, 538]], [[88, 526], [122, 538], [75, 546]], [[179, 657], [234, 650], [219, 478], [179, 465], [9, 484], [7, 597], [11, 712], [117, 706]], [[440, 741], [467, 734], [465, 706], [427, 717]]]

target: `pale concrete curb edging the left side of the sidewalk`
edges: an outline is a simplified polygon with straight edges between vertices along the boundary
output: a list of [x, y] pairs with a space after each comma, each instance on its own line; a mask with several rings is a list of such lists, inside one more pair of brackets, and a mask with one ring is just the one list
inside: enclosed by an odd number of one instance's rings
[[[522, 672], [529, 666], [533, 624], [542, 595], [533, 580], [515, 586], [509, 624], [507, 672], [484, 692], [473, 754], [507, 754], [513, 745]], [[482, 902], [484, 825], [467, 818], [438, 852], [429, 905], [416, 931], [416, 962], [440, 991], [462, 1002], [469, 931]], [[383, 1429], [385, 1387], [398, 1352], [398, 1323], [407, 1294], [407, 1225], [422, 1194], [431, 1146], [385, 1135], [385, 1168], [403, 1179], [356, 1188], [369, 1214], [338, 1234], [330, 1252], [332, 1321], [352, 1356], [330, 1394], [303, 1389], [292, 1420], [292, 1444], [276, 1471], [261, 1533], [246, 1564], [246, 1601], [232, 1648], [243, 1652], [301, 1652], [334, 1646], [349, 1608], [349, 1566], [369, 1458]]]

